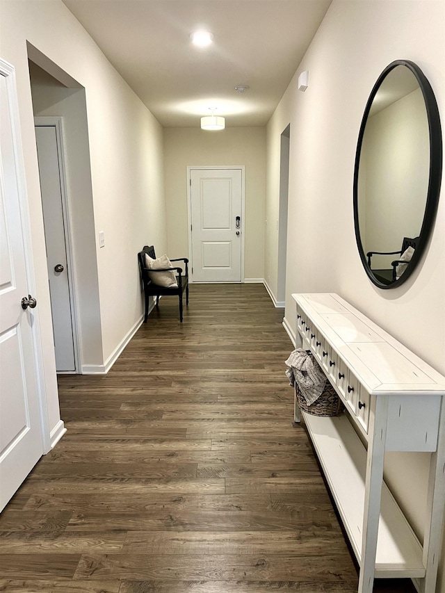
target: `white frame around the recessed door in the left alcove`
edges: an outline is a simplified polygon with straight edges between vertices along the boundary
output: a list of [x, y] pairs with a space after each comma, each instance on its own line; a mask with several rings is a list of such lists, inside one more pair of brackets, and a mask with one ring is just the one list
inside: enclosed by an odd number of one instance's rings
[[[79, 374], [81, 369], [81, 356], [79, 348], [79, 335], [78, 335], [78, 323], [79, 319], [77, 309], [77, 298], [76, 298], [76, 282], [74, 276], [74, 265], [73, 265], [73, 241], [72, 241], [72, 222], [70, 216], [70, 203], [68, 200], [67, 191], [67, 177], [65, 168], [65, 143], [64, 143], [64, 128], [63, 128], [63, 117], [60, 116], [38, 116], [34, 117], [35, 126], [53, 126], [56, 129], [56, 140], [58, 146], [58, 169], [60, 172], [60, 195], [62, 196], [62, 214], [63, 214], [63, 227], [65, 234], [65, 250], [67, 257], [67, 275], [68, 275], [68, 286], [70, 294], [70, 309], [71, 309], [71, 323], [72, 323], [72, 341], [74, 349], [74, 373], [72, 371], [57, 371], [60, 375], [73, 375]], [[40, 171], [39, 171], [40, 176]]]

